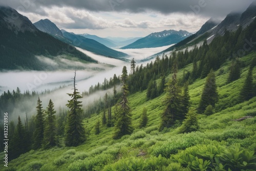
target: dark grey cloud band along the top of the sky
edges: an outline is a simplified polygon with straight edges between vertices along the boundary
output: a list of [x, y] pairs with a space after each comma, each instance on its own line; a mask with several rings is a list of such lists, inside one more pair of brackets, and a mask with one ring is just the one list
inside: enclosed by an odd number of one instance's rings
[[244, 10], [253, 0], [0, 0], [0, 4], [7, 4], [14, 9], [20, 5], [29, 6], [35, 3], [27, 11], [41, 6], [45, 7], [65, 7], [70, 6], [78, 9], [90, 11], [129, 11], [143, 12], [146, 10], [158, 11], [164, 14], [181, 12], [188, 13], [193, 11], [199, 15], [206, 16], [225, 16], [231, 11]]

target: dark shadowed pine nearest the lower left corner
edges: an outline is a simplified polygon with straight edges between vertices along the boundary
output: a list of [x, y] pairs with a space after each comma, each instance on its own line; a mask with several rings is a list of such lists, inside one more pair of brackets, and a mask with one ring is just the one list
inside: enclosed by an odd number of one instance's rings
[[15, 159], [19, 155], [27, 152], [27, 147], [29, 145], [26, 142], [27, 138], [25, 127], [22, 124], [22, 120], [18, 116], [18, 123], [10, 141], [10, 152], [8, 153], [10, 160]]

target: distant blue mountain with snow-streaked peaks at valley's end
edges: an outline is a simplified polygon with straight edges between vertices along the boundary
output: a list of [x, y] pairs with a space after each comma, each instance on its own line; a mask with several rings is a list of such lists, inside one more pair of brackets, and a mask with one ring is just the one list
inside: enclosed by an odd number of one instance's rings
[[150, 35], [138, 39], [132, 44], [122, 47], [121, 49], [140, 49], [167, 46], [176, 44], [190, 35], [192, 34], [183, 30], [164, 30], [162, 32], [151, 33]]

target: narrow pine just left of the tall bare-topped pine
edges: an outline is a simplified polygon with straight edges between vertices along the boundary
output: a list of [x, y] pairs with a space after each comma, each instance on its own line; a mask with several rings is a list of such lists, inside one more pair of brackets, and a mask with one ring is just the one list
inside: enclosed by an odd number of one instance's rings
[[44, 132], [44, 147], [49, 148], [56, 145], [56, 116], [54, 115], [54, 104], [50, 99], [46, 111], [45, 132]]

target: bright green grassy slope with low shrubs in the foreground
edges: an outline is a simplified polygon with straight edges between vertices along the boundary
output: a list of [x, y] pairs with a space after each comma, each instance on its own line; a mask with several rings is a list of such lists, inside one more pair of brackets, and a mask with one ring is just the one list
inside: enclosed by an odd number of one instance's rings
[[[231, 61], [225, 62], [215, 72], [220, 100], [216, 105], [215, 114], [198, 116], [200, 129], [197, 132], [179, 134], [181, 122], [176, 122], [170, 129], [158, 132], [160, 114], [164, 110], [162, 101], [165, 94], [146, 101], [146, 91], [143, 91], [129, 96], [135, 128], [132, 135], [113, 140], [114, 128], [106, 126], [100, 126], [100, 134], [95, 135], [94, 125], [101, 117], [95, 114], [84, 120], [89, 135], [86, 143], [77, 147], [55, 147], [47, 151], [32, 150], [9, 162], [8, 169], [190, 170], [192, 168], [193, 170], [195, 167], [194, 170], [200, 170], [199, 168], [202, 167], [201, 170], [204, 170], [208, 166], [208, 169], [212, 167], [216, 170], [225, 170], [222, 167], [229, 164], [249, 170], [249, 166], [255, 164], [256, 158], [254, 155], [256, 119], [254, 117], [240, 122], [231, 120], [256, 115], [256, 97], [243, 103], [238, 102], [248, 65], [255, 55], [256, 53], [251, 53], [241, 58], [247, 67], [242, 69], [241, 78], [234, 82], [226, 83]], [[191, 71], [192, 65], [179, 70], [179, 78], [183, 70]], [[167, 79], [170, 77], [171, 75]], [[253, 70], [253, 79], [255, 82], [256, 68]], [[198, 79], [189, 86], [190, 103], [194, 108], [199, 103], [204, 82], [205, 79]], [[148, 123], [144, 129], [138, 129], [140, 114], [144, 107], [147, 108]], [[243, 154], [247, 156], [246, 159]], [[240, 157], [243, 159], [239, 159]], [[120, 169], [121, 167], [123, 169]], [[184, 168], [181, 169], [181, 167]], [[0, 165], [0, 170], [8, 169], [4, 169], [3, 164]]]

